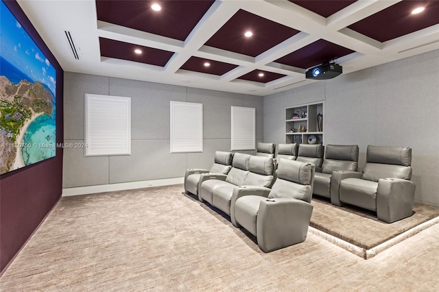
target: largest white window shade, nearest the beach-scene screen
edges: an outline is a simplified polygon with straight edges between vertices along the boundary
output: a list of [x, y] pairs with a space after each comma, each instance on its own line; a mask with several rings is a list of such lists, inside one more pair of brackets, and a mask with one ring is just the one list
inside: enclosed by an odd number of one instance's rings
[[85, 95], [85, 156], [131, 155], [131, 98]]

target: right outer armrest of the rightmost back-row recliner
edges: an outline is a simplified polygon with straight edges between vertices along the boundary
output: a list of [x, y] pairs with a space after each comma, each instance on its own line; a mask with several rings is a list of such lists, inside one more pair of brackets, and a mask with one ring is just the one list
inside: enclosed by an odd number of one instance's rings
[[377, 188], [377, 217], [392, 223], [412, 216], [416, 185], [410, 180], [380, 178]]

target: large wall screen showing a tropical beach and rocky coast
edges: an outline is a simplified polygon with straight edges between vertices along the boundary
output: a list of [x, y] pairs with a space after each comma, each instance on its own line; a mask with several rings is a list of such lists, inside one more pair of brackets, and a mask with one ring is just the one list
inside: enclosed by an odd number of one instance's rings
[[0, 1], [0, 174], [56, 154], [56, 69]]

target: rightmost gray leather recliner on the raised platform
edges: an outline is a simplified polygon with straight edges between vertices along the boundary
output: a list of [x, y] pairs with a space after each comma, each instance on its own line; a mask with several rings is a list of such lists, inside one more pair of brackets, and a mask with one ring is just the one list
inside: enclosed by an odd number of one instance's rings
[[368, 146], [363, 172], [334, 171], [331, 203], [344, 203], [376, 211], [381, 221], [392, 223], [412, 216], [415, 184], [412, 149]]

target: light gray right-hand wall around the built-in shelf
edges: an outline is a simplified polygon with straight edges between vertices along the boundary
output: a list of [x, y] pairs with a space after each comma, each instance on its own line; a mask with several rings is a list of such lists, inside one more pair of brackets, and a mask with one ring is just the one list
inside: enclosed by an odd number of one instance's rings
[[325, 144], [412, 147], [418, 202], [439, 205], [439, 50], [264, 97], [263, 141], [285, 143], [285, 108], [325, 101]]

